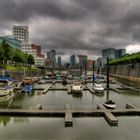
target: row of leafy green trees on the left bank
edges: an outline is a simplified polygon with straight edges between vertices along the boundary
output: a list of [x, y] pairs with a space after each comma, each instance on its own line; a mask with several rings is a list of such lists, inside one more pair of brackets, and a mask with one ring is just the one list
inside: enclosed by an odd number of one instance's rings
[[22, 52], [19, 49], [12, 48], [8, 43], [0, 43], [0, 64], [12, 64], [15, 66], [31, 66], [35, 64], [34, 57], [31, 54]]

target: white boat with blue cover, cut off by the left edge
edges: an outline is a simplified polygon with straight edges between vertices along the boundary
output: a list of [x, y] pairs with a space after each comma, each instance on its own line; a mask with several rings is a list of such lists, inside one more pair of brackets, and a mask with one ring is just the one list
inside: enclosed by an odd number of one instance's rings
[[15, 85], [12, 80], [0, 79], [0, 96], [6, 96], [14, 92]]

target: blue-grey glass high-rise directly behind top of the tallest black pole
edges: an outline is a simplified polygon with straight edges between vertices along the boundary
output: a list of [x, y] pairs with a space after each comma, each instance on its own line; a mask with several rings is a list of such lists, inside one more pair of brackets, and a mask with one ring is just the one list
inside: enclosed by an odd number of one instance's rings
[[115, 58], [115, 49], [114, 48], [109, 48], [109, 49], [102, 50], [103, 64], [106, 64], [107, 57], [109, 57], [109, 59], [114, 59]]

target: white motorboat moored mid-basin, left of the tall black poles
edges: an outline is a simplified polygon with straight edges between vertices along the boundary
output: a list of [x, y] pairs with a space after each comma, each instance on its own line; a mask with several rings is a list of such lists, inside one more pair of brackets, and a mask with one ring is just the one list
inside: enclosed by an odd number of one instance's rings
[[76, 81], [71, 86], [72, 93], [81, 93], [83, 91], [83, 87], [79, 81]]

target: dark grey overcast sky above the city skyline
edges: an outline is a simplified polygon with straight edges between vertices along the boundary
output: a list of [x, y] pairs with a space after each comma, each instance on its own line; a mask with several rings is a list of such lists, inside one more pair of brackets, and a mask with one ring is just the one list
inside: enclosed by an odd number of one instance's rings
[[[0, 34], [27, 25], [31, 42], [69, 58], [140, 51], [140, 0], [0, 0]], [[45, 51], [44, 51], [45, 52]]]

